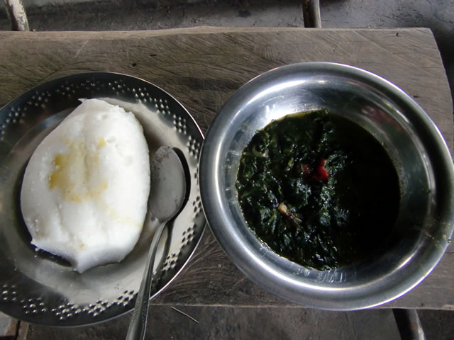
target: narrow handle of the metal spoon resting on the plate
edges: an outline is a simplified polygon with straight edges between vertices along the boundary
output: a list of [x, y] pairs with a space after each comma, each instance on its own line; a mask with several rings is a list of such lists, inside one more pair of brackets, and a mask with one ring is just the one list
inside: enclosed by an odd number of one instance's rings
[[126, 340], [141, 340], [145, 337], [145, 328], [147, 326], [148, 302], [150, 300], [151, 280], [153, 279], [153, 266], [155, 263], [157, 244], [161, 238], [162, 230], [164, 230], [167, 221], [161, 223], [157, 227], [150, 250], [148, 251], [148, 259], [145, 265], [145, 273], [143, 273], [140, 289], [137, 293], [133, 316], [129, 323], [128, 334]]

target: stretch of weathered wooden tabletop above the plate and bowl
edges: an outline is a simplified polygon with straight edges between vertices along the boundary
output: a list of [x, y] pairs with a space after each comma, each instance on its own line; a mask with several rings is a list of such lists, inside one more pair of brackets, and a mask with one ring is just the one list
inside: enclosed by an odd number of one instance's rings
[[448, 80], [424, 28], [2, 32], [0, 44], [0, 105], [67, 74], [120, 72], [174, 94], [206, 131], [222, 104], [258, 74], [292, 62], [341, 62], [379, 74], [416, 98], [452, 146]]

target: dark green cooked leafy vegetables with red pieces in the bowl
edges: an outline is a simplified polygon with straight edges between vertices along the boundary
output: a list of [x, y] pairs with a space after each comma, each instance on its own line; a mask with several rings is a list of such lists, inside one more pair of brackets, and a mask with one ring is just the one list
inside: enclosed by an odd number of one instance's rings
[[399, 177], [380, 142], [326, 111], [287, 115], [258, 131], [236, 187], [257, 237], [319, 270], [377, 254], [399, 209]]

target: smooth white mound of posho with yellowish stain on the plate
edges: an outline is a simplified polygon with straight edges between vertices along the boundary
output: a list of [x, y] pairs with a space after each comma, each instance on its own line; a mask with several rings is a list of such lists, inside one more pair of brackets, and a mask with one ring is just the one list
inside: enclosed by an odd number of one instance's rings
[[133, 113], [83, 100], [33, 153], [21, 189], [31, 243], [82, 273], [118, 262], [143, 227], [150, 158]]

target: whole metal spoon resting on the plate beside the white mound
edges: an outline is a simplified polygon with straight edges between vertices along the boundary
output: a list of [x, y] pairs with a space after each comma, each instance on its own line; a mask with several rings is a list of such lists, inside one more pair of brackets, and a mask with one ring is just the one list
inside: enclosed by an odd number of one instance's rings
[[157, 244], [165, 224], [177, 215], [184, 203], [186, 194], [184, 169], [182, 162], [171, 147], [160, 147], [155, 152], [151, 162], [151, 181], [149, 209], [160, 225], [157, 227], [150, 245], [148, 261], [145, 265], [137, 300], [135, 300], [126, 340], [143, 339], [145, 336]]

